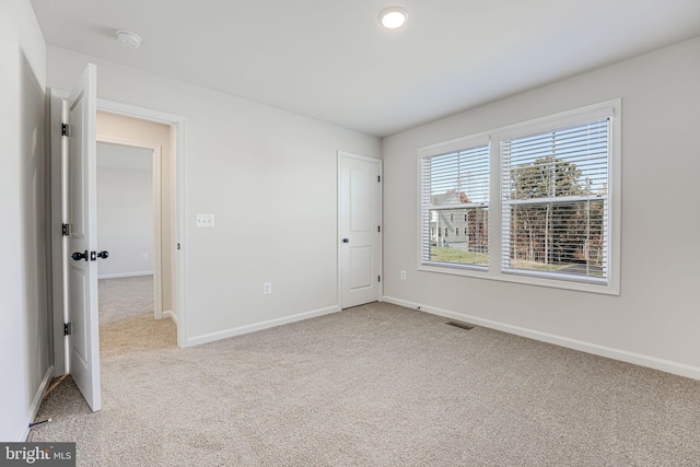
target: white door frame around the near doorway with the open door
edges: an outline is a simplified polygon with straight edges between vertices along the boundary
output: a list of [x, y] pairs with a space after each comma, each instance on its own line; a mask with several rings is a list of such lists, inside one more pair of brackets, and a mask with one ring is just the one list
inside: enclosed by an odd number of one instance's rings
[[[61, 137], [61, 101], [68, 98], [69, 93], [63, 90], [50, 90], [49, 96], [49, 147], [51, 161], [51, 302], [52, 302], [52, 325], [54, 330], [54, 376], [67, 373], [66, 358], [68, 354], [68, 341], [63, 336], [63, 324], [68, 322], [68, 294], [63, 288], [66, 276], [63, 258], [68, 254], [67, 245], [61, 235], [61, 224], [63, 222], [62, 192], [65, 180], [62, 179], [62, 147], [66, 143]], [[175, 148], [175, 236], [173, 245], [175, 249], [175, 294], [173, 296], [174, 320], [177, 323], [177, 346], [187, 347], [187, 257], [184, 255], [183, 246], [187, 245], [185, 229], [185, 184], [186, 184], [186, 159], [187, 159], [187, 119], [182, 115], [154, 110], [130, 104], [122, 104], [115, 101], [97, 98], [97, 110], [118, 114], [126, 117], [141, 120], [154, 121], [173, 126], [176, 130]]]

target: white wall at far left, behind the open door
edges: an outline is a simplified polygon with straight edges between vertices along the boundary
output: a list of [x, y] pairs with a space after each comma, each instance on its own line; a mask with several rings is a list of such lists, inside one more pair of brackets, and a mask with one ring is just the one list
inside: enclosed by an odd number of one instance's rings
[[0, 2], [0, 441], [24, 441], [50, 376], [46, 45], [28, 0]]

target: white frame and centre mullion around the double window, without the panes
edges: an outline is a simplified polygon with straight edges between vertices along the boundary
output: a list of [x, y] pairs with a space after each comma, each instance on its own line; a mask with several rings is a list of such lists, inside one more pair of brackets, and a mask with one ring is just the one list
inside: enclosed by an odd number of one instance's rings
[[[622, 100], [609, 100], [571, 110], [509, 125], [480, 133], [456, 138], [445, 142], [422, 147], [418, 149], [418, 255], [417, 269], [425, 272], [438, 272], [456, 276], [465, 276], [480, 279], [499, 280], [557, 289], [575, 290], [610, 295], [620, 294], [620, 230], [621, 230], [621, 114]], [[503, 270], [502, 252], [502, 141], [518, 138], [537, 132], [550, 131], [561, 127], [581, 125], [595, 118], [609, 118], [609, 160], [608, 160], [608, 211], [607, 211], [607, 254], [608, 276], [607, 280], [591, 281], [587, 277], [564, 277], [563, 275], [549, 275], [527, 271], [525, 275], [505, 272]], [[483, 141], [490, 142], [490, 183], [489, 183], [489, 266], [471, 267], [459, 264], [438, 264], [423, 261], [423, 182], [422, 161], [425, 157], [445, 154], [472, 148]]]

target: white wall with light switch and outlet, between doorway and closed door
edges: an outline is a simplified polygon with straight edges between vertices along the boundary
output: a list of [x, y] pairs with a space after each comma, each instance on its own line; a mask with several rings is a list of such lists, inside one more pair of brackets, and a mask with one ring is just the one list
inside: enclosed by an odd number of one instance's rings
[[100, 97], [187, 118], [187, 343], [336, 311], [337, 151], [378, 157], [380, 140], [54, 46], [48, 85], [70, 89], [89, 61]]

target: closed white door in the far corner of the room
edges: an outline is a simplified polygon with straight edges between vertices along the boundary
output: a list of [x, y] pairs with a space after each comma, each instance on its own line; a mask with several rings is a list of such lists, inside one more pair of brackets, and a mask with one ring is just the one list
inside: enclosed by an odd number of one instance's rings
[[340, 305], [381, 297], [382, 183], [376, 159], [339, 154]]

